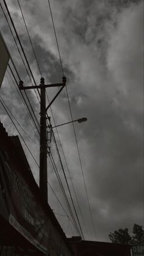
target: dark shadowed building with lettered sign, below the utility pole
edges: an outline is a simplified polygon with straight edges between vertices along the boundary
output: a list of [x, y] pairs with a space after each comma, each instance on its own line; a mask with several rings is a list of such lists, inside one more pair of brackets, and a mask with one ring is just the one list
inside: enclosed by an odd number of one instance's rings
[[18, 136], [0, 122], [0, 255], [72, 256], [54, 213], [40, 196]]

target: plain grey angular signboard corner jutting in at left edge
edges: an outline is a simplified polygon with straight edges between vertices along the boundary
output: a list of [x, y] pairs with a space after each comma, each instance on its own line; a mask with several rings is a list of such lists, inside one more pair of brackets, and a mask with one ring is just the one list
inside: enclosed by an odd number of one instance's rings
[[9, 59], [10, 59], [9, 51], [7, 49], [7, 46], [5, 45], [4, 39], [0, 32], [0, 88], [1, 88], [2, 81], [4, 79], [4, 74], [5, 74], [5, 70], [7, 68]]

